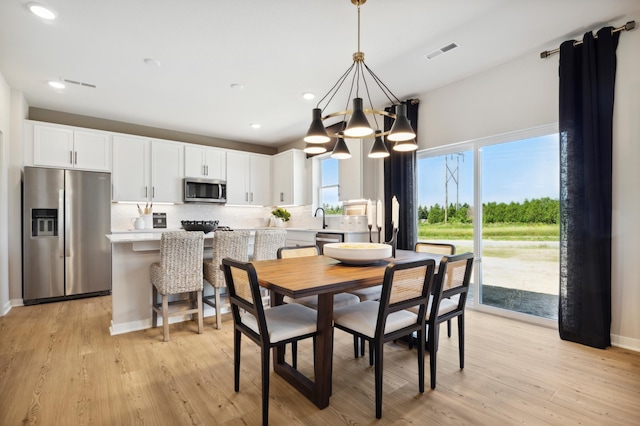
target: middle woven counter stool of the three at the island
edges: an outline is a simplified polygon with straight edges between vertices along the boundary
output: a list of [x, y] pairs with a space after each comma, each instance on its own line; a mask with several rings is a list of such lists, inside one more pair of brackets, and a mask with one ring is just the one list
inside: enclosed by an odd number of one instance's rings
[[203, 296], [202, 302], [215, 309], [217, 329], [222, 328], [223, 303], [220, 292], [225, 286], [222, 259], [229, 257], [243, 262], [249, 260], [249, 235], [249, 231], [216, 231], [213, 236], [212, 257], [202, 263], [205, 282], [213, 287], [213, 294]]

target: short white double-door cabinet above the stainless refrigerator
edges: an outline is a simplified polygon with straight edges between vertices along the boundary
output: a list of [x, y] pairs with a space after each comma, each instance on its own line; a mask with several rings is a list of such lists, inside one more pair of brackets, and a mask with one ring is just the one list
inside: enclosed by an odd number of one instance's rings
[[33, 165], [111, 170], [111, 135], [66, 126], [33, 125]]

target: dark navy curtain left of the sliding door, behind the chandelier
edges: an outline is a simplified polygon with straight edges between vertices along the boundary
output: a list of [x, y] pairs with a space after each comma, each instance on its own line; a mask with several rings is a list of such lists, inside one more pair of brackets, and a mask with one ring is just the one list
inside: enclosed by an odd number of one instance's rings
[[[418, 134], [418, 106], [417, 99], [406, 101], [407, 117], [409, 122]], [[386, 109], [387, 112], [391, 108]], [[385, 132], [391, 128], [393, 120], [385, 117]], [[399, 249], [413, 250], [418, 241], [418, 228], [415, 219], [416, 206], [416, 152], [397, 152], [393, 150], [393, 142], [387, 143], [387, 148], [391, 155], [384, 159], [384, 229], [385, 241], [392, 237], [391, 229], [391, 199], [395, 195], [400, 204], [400, 217], [398, 221], [398, 241]]]

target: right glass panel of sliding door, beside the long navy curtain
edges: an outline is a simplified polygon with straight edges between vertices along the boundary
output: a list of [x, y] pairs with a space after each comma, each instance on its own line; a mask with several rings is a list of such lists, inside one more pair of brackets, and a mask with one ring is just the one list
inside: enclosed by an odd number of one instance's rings
[[557, 319], [558, 135], [479, 148], [479, 303]]

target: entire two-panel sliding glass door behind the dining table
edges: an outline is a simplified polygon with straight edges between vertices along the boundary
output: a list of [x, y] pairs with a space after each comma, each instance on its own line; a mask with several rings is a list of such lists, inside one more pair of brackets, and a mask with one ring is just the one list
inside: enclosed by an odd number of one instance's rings
[[481, 260], [477, 308], [557, 319], [558, 144], [545, 126], [418, 156], [418, 239]]

